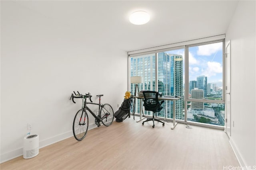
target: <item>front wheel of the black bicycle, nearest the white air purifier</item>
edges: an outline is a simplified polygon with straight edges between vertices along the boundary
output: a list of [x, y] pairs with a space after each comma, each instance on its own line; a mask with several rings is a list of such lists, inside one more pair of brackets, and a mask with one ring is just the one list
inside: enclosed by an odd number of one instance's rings
[[88, 124], [89, 121], [86, 110], [78, 110], [73, 122], [73, 134], [76, 140], [81, 141], [82, 139], [84, 139], [88, 130]]

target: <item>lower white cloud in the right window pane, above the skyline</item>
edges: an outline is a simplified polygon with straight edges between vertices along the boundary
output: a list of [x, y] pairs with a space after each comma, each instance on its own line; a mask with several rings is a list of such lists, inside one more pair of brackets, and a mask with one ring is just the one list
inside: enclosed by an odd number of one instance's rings
[[211, 77], [216, 76], [218, 73], [222, 73], [222, 65], [218, 62], [207, 62], [207, 68], [203, 70], [202, 74]]

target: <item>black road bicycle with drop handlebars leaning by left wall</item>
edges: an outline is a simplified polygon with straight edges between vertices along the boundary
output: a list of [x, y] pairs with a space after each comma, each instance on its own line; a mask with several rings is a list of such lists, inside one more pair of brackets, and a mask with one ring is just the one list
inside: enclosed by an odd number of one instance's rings
[[[99, 97], [99, 103], [92, 102], [92, 95], [90, 93], [83, 95], [79, 92], [78, 94], [74, 92], [74, 94], [72, 93], [70, 97], [70, 100], [72, 98], [74, 103], [76, 103], [74, 98], [82, 98], [82, 109], [78, 110], [73, 121], [73, 134], [76, 140], [81, 141], [87, 134], [89, 119], [86, 110], [88, 110], [93, 115], [95, 118], [95, 124], [98, 125], [98, 127], [100, 127], [100, 122], [102, 122], [102, 124], [105, 126], [110, 126], [112, 124], [114, 120], [114, 111], [110, 104], [100, 103], [100, 98], [103, 96], [103, 94], [97, 95], [97, 97]], [[90, 102], [86, 102], [87, 98], [89, 98]], [[87, 104], [98, 105], [98, 115], [94, 114], [94, 112], [87, 106]]]

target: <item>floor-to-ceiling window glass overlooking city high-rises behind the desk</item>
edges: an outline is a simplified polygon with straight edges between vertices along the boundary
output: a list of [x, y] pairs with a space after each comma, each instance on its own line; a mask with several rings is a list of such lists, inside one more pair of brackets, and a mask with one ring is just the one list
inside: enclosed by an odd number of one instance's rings
[[[175, 103], [176, 119], [224, 126], [223, 49], [222, 39], [129, 56], [129, 75], [143, 77], [139, 90], [180, 96]], [[135, 84], [130, 84], [130, 90], [134, 94]], [[136, 101], [136, 113], [139, 106]], [[165, 101], [158, 117], [172, 119], [172, 106], [173, 101]]]

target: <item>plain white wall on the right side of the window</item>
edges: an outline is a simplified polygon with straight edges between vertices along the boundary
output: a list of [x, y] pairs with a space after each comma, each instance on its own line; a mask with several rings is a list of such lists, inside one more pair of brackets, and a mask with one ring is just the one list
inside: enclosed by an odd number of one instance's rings
[[[231, 47], [231, 138], [241, 166], [256, 165], [255, 1], [239, 1], [226, 33]], [[253, 167], [252, 167], [253, 168]]]

